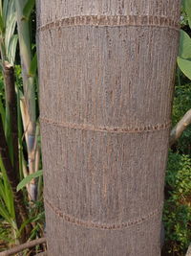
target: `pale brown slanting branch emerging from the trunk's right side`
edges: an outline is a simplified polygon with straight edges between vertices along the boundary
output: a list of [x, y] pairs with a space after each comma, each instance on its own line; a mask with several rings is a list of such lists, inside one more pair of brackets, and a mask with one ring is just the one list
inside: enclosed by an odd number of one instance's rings
[[180, 138], [182, 132], [191, 124], [191, 109], [180, 119], [180, 122], [171, 130], [170, 147]]

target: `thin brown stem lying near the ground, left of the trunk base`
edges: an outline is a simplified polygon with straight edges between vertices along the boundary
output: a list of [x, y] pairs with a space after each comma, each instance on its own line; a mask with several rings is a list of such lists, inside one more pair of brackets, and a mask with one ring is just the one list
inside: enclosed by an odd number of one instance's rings
[[[46, 243], [46, 238], [40, 238], [40, 239], [36, 239], [36, 240], [33, 240], [29, 243], [26, 243], [26, 244], [21, 244], [21, 245], [18, 245], [18, 246], [15, 246], [7, 251], [3, 251], [3, 252], [0, 252], [0, 256], [10, 256], [10, 255], [14, 255], [24, 249], [28, 249], [28, 248], [31, 248], [35, 245], [38, 245], [38, 244], [43, 244], [43, 243]], [[38, 254], [37, 254], [38, 255]], [[42, 255], [45, 255], [45, 254], [42, 254]]]

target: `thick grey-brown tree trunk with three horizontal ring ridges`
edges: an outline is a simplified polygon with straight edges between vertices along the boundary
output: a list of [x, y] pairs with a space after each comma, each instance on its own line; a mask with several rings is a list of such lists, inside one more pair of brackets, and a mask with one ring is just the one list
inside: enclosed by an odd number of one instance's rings
[[49, 253], [158, 256], [180, 0], [37, 10]]

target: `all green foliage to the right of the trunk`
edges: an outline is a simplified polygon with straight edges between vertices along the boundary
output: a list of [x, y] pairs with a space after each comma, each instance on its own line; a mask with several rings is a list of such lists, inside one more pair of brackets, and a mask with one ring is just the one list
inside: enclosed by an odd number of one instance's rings
[[[173, 104], [173, 127], [191, 108], [191, 0], [182, 1], [178, 81]], [[182, 73], [181, 73], [181, 72]], [[188, 79], [186, 79], [186, 77]], [[165, 178], [163, 255], [184, 256], [191, 243], [191, 127], [169, 152]]]

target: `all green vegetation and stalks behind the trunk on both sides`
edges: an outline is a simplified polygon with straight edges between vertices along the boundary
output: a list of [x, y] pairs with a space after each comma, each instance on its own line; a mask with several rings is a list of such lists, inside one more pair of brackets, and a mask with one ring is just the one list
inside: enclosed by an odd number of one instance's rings
[[[190, 20], [191, 1], [185, 0], [173, 127], [191, 108]], [[44, 234], [35, 48], [34, 0], [0, 0], [0, 251]], [[12, 71], [15, 82], [11, 80]], [[3, 154], [5, 145], [7, 157]], [[7, 170], [9, 164], [11, 174]], [[18, 199], [24, 209], [19, 208]], [[191, 127], [169, 150], [163, 223], [163, 255], [185, 255], [191, 243]], [[43, 249], [36, 246], [24, 255]]]

